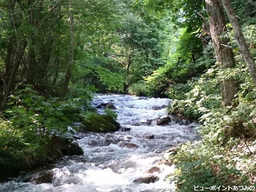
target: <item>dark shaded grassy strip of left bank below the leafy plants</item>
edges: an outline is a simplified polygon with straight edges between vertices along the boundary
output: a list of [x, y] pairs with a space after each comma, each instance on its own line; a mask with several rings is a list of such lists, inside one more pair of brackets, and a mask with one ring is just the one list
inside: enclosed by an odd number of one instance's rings
[[[84, 154], [78, 144], [72, 143], [72, 138], [45, 135], [39, 137], [37, 142], [39, 141], [42, 145], [38, 145], [38, 148], [31, 150], [31, 153], [25, 153], [25, 149], [21, 150], [19, 148], [12, 148], [11, 152], [6, 146], [4, 149], [5, 153], [1, 153], [1, 158], [6, 162], [2, 161], [0, 163], [0, 182], [13, 179], [15, 176], [18, 176], [20, 171], [27, 172], [53, 163], [63, 156]], [[15, 153], [23, 154], [15, 157]], [[9, 161], [9, 164], [7, 164], [7, 161]]]

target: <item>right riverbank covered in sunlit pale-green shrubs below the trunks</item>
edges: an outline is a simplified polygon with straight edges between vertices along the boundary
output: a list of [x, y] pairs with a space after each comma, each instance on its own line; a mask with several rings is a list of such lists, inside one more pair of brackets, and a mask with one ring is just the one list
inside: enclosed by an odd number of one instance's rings
[[[202, 75], [190, 91], [175, 90], [168, 113], [199, 119], [202, 140], [185, 143], [170, 156], [177, 166], [181, 192], [195, 186], [251, 186], [256, 184], [256, 89], [240, 91], [232, 106], [221, 106], [214, 71]], [[207, 77], [207, 78], [206, 78]], [[193, 84], [192, 84], [193, 85]], [[190, 170], [190, 171], [188, 171]]]

